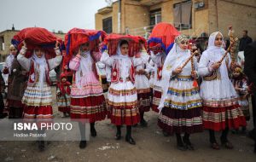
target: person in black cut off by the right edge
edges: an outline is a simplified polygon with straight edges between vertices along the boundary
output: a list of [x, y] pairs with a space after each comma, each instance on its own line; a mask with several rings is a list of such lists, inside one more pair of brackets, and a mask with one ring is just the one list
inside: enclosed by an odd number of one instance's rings
[[256, 153], [256, 41], [247, 45], [245, 51], [244, 72], [247, 74], [250, 83], [253, 84], [252, 105], [253, 105], [253, 130], [249, 132], [249, 136], [253, 138], [254, 152]]

